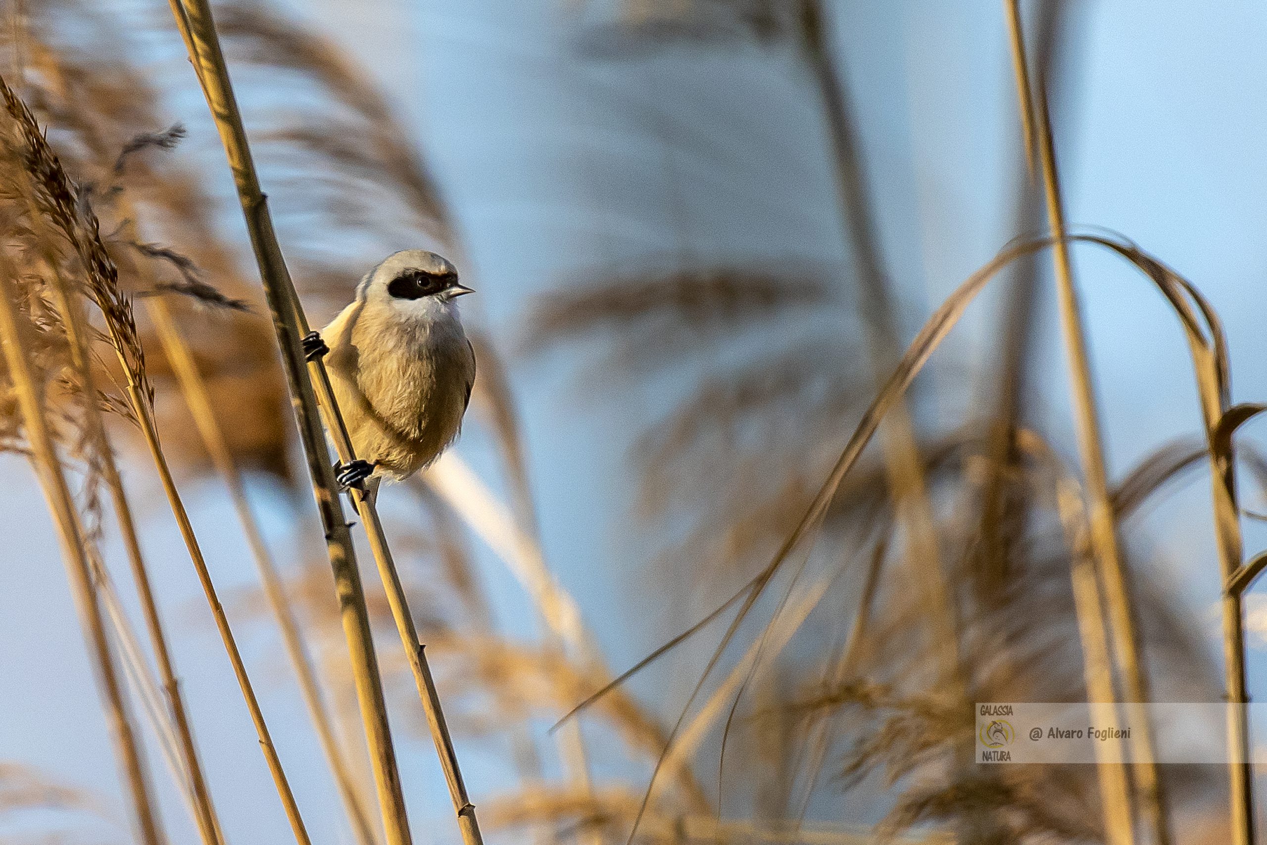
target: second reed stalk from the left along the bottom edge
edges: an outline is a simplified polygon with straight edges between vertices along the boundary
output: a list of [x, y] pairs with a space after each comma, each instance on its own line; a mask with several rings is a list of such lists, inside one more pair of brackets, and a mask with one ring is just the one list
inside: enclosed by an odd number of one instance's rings
[[101, 459], [101, 476], [110, 490], [115, 519], [119, 523], [123, 546], [128, 555], [128, 562], [132, 566], [132, 580], [136, 583], [137, 593], [141, 597], [141, 609], [146, 619], [146, 630], [150, 633], [150, 642], [153, 646], [155, 659], [158, 664], [158, 677], [162, 680], [162, 689], [167, 698], [172, 725], [179, 740], [180, 756], [193, 792], [198, 831], [207, 845], [215, 845], [220, 841], [215, 807], [212, 804], [212, 796], [207, 788], [203, 764], [198, 759], [198, 746], [194, 742], [185, 701], [180, 693], [180, 680], [176, 677], [171, 651], [167, 647], [167, 636], [163, 631], [162, 618], [158, 614], [158, 603], [155, 599], [153, 587], [150, 581], [150, 571], [141, 554], [141, 541], [137, 538], [132, 507], [123, 489], [123, 479], [119, 475], [114, 451], [110, 448], [110, 442], [106, 438], [105, 422], [101, 419], [101, 410], [96, 403], [96, 385], [92, 379], [92, 365], [89, 360], [87, 338], [84, 334], [84, 313], [79, 304], [71, 299], [70, 291], [66, 289], [67, 283], [61, 277], [56, 266], [51, 265], [51, 272], [54, 276], [51, 285], [53, 303], [61, 314], [62, 326], [66, 329], [71, 359], [80, 379], [80, 389], [87, 398], [85, 412], [89, 432], [92, 440], [96, 441], [96, 451]]

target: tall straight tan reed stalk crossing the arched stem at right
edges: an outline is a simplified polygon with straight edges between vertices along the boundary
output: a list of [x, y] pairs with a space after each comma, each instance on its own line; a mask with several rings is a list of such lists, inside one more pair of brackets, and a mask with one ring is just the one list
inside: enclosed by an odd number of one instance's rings
[[1136, 746], [1139, 759], [1135, 769], [1139, 798], [1143, 804], [1142, 816], [1152, 831], [1153, 841], [1168, 845], [1171, 841], [1169, 825], [1163, 807], [1161, 780], [1157, 775], [1153, 740], [1143, 706], [1148, 701], [1148, 685], [1139, 655], [1126, 573], [1117, 549], [1117, 531], [1114, 524], [1112, 504], [1109, 499], [1104, 440], [1100, 432], [1095, 385], [1091, 380], [1086, 332], [1082, 326], [1078, 290], [1073, 281], [1069, 245], [1066, 239], [1064, 205], [1060, 198], [1055, 146], [1048, 118], [1045, 79], [1039, 79], [1038, 85], [1030, 82], [1019, 0], [1003, 0], [1003, 9], [1007, 14], [1011, 35], [1020, 111], [1028, 127], [1026, 136], [1038, 143], [1047, 215], [1052, 228], [1052, 256], [1058, 285], [1060, 326], [1069, 365], [1069, 384], [1073, 391], [1078, 452], [1090, 499], [1091, 551], [1109, 603], [1110, 630], [1114, 649], [1121, 664], [1130, 722], [1144, 726], [1144, 741]]

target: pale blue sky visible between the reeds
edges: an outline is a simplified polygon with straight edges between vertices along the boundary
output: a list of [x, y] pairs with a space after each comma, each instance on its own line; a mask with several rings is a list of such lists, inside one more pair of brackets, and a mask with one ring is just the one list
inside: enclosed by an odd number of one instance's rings
[[[465, 271], [479, 289], [475, 313], [498, 337], [507, 343], [521, 337], [526, 309], [556, 286], [579, 284], [595, 265], [685, 248], [701, 260], [844, 266], [824, 127], [808, 79], [791, 56], [739, 47], [737, 57], [703, 49], [584, 58], [576, 49], [580, 5], [296, 4], [366, 63], [416, 128], [461, 229]], [[1017, 234], [1011, 208], [1022, 171], [1001, 4], [854, 0], [835, 6], [834, 35], [863, 132], [884, 258], [908, 313], [922, 319]], [[1263, 399], [1267, 9], [1249, 0], [1101, 0], [1074, 8], [1068, 49], [1074, 73], [1058, 127], [1068, 218], [1121, 232], [1195, 281], [1225, 322], [1234, 398]], [[601, 6], [594, 9], [601, 14]], [[195, 115], [172, 118], [199, 125]], [[683, 229], [689, 232], [685, 247]], [[1083, 248], [1077, 270], [1110, 466], [1120, 473], [1162, 442], [1197, 431], [1188, 353], [1161, 298], [1119, 260]], [[935, 359], [929, 388], [939, 421], [958, 419], [971, 405], [967, 374], [990, 361], [991, 313], [987, 296]], [[1063, 360], [1050, 308], [1047, 314], [1045, 429], [1072, 455]], [[313, 314], [313, 322], [324, 317]], [[911, 323], [908, 333], [916, 327]], [[639, 592], [646, 542], [623, 519], [632, 495], [627, 450], [668, 400], [608, 393], [582, 402], [599, 394], [602, 385], [585, 380], [597, 372], [557, 357], [512, 356], [547, 555], [609, 663], [625, 666], [684, 621], [666, 618], [651, 595]], [[478, 435], [460, 451], [476, 467], [495, 466]], [[285, 821], [253, 742], [243, 739], [250, 736], [246, 712], [223, 694], [232, 677], [176, 531], [152, 479], [139, 469], [128, 478], [143, 503], [143, 536], [166, 616], [179, 627], [177, 664], [227, 832], [241, 842], [283, 841]], [[0, 759], [38, 763], [117, 797], [54, 535], [20, 460], [0, 457], [0, 513], [11, 518], [0, 532], [6, 573], [0, 581]], [[294, 564], [299, 540], [280, 499], [266, 485], [255, 492], [272, 514], [274, 549], [284, 564]], [[191, 483], [188, 497], [218, 583], [224, 590], [251, 583], [246, 547], [215, 485]], [[1164, 554], [1144, 559], [1140, 578], [1172, 590], [1213, 635], [1218, 578], [1206, 502], [1207, 486], [1196, 480], [1142, 517]], [[1249, 497], [1247, 504], [1261, 500]], [[1247, 526], [1248, 550], [1263, 543], [1267, 532]], [[512, 632], [531, 636], [517, 587], [485, 559], [502, 619]], [[314, 841], [348, 841], [271, 632], [243, 628], [242, 640]], [[1252, 690], [1261, 692], [1267, 663], [1262, 645], [1254, 649]], [[636, 689], [656, 701], [654, 683]], [[672, 711], [672, 703], [660, 704]], [[413, 737], [407, 746], [403, 777], [413, 812], [419, 820], [445, 818], [438, 766], [426, 740]], [[500, 779], [493, 753], [475, 744], [460, 751], [471, 783]], [[165, 783], [157, 761], [155, 772]], [[162, 789], [175, 839], [189, 841], [179, 801]], [[418, 839], [450, 841], [446, 831], [423, 825]], [[122, 831], [101, 834], [103, 841], [119, 839]]]

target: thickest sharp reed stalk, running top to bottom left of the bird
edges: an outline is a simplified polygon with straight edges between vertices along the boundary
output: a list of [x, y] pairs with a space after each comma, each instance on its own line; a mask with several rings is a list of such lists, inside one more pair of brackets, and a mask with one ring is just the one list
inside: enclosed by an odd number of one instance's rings
[[[237, 99], [233, 95], [224, 54], [220, 51], [219, 38], [215, 33], [210, 5], [207, 0], [171, 0], [171, 8], [181, 37], [185, 41], [185, 47], [189, 51], [190, 61], [194, 63], [198, 73], [207, 104], [212, 111], [212, 117], [215, 119], [229, 167], [233, 171], [233, 181], [237, 186], [242, 213], [251, 237], [251, 246], [260, 267], [265, 296], [269, 300], [269, 310], [272, 315], [274, 329], [281, 351], [286, 381], [299, 423], [300, 438], [303, 440], [304, 454], [308, 459], [313, 492], [321, 512], [322, 524], [326, 530], [327, 551], [331, 566], [334, 570], [336, 588], [342, 607], [343, 632], [352, 656], [357, 698], [365, 723], [366, 739], [371, 749], [370, 756], [374, 763], [375, 785], [386, 829], [386, 841], [388, 845], [409, 845], [412, 841], [409, 822], [397, 772], [395, 751], [392, 746], [386, 704], [379, 677], [378, 658], [374, 652], [369, 612], [365, 607], [365, 594], [356, 570], [351, 535], [348, 533], [347, 524], [343, 522], [342, 505], [338, 500], [334, 475], [329, 465], [329, 452], [324, 443], [317, 397], [313, 391], [313, 384], [304, 371], [304, 359], [299, 348], [300, 331], [307, 332], [305, 321], [299, 308], [298, 295], [290, 281], [285, 260], [281, 256], [276, 234], [272, 231], [267, 200], [260, 189], [260, 180], [255, 171], [246, 129], [242, 125], [242, 115], [237, 108]], [[324, 375], [324, 367], [319, 362], [314, 369], [321, 375]], [[321, 386], [328, 391], [328, 381], [326, 379], [321, 379]], [[331, 404], [328, 409], [337, 418], [337, 408]], [[359, 508], [362, 502], [362, 497], [357, 499]], [[379, 552], [385, 549], [385, 543], [374, 542], [375, 535], [381, 540], [381, 531], [376, 524], [376, 514], [372, 512], [372, 508], [366, 508], [365, 511], [370, 518], [366, 519], [366, 514], [362, 513], [362, 521], [366, 528], [374, 528], [375, 533], [371, 533], [371, 545], [375, 545], [375, 551]], [[380, 569], [384, 565], [390, 568], [389, 560], [380, 560], [379, 564]], [[394, 573], [394, 568], [392, 568], [392, 573]], [[385, 578], [384, 583], [389, 587], [389, 590], [393, 585], [399, 587], [398, 579]], [[397, 598], [403, 597], [397, 595]], [[393, 611], [398, 606], [399, 602], [394, 600]], [[404, 622], [407, 626], [402, 623], [398, 616], [398, 627], [402, 636], [407, 633], [407, 627], [412, 628], [412, 621], [408, 617], [404, 618]], [[413, 637], [412, 641], [405, 641], [405, 651], [411, 655], [411, 663], [414, 661], [414, 656], [421, 661], [422, 651], [417, 637]], [[426, 664], [423, 663], [422, 665]], [[430, 674], [422, 680], [426, 684]], [[426, 685], [433, 696], [433, 687], [430, 684]], [[428, 721], [435, 722], [435, 720]], [[442, 725], [442, 722], [440, 723]], [[449, 768], [451, 766], [446, 766], [446, 774]], [[452, 785], [452, 782], [450, 783]], [[466, 807], [466, 804], [461, 806], [459, 808], [460, 813], [465, 813], [473, 823], [474, 816], [469, 813]], [[478, 841], [478, 831], [475, 841]]]

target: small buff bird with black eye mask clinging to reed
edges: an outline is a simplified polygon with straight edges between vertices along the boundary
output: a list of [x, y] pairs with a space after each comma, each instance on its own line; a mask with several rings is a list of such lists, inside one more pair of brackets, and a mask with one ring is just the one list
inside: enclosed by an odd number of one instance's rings
[[304, 338], [309, 356], [326, 355], [356, 451], [356, 461], [338, 467], [345, 486], [369, 479], [372, 494], [383, 476], [413, 475], [457, 436], [475, 351], [454, 300], [470, 293], [447, 260], [404, 250], [361, 279], [356, 299], [319, 336]]

